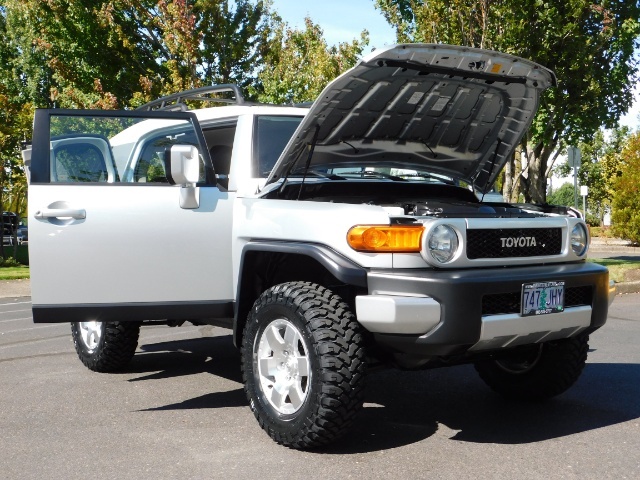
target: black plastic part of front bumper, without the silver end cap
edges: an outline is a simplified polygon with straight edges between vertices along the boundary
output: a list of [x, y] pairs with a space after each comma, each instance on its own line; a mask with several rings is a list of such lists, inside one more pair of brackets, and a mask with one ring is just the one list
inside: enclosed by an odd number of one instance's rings
[[370, 294], [428, 295], [440, 303], [441, 321], [427, 335], [375, 335], [378, 343], [392, 351], [418, 355], [465, 352], [480, 338], [483, 297], [519, 291], [523, 283], [563, 280], [566, 288], [591, 286], [590, 331], [604, 325], [609, 308], [608, 271], [593, 263], [474, 270], [375, 270], [369, 272], [367, 280]]

